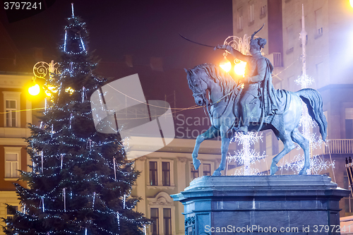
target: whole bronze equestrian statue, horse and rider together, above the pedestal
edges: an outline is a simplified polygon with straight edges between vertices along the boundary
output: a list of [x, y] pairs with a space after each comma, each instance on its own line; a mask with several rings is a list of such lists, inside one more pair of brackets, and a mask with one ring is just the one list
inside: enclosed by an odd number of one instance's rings
[[[260, 29], [261, 30], [261, 29]], [[258, 30], [258, 31], [260, 31]], [[327, 121], [323, 115], [323, 102], [317, 90], [306, 88], [297, 92], [275, 90], [271, 73], [273, 65], [262, 56], [261, 49], [266, 40], [251, 35], [251, 56], [241, 54], [229, 45], [219, 45], [215, 49], [226, 49], [236, 59], [246, 62], [246, 73], [243, 81], [236, 81], [219, 66], [201, 64], [186, 70], [189, 88], [197, 105], [208, 110], [212, 126], [205, 133], [198, 135], [193, 149], [193, 166], [200, 167], [198, 150], [203, 140], [222, 139], [220, 166], [213, 172], [220, 176], [226, 166], [229, 142], [234, 132], [265, 131], [271, 129], [282, 141], [284, 149], [273, 157], [270, 174], [278, 170], [277, 163], [295, 148], [294, 142], [304, 150], [304, 167], [299, 174], [307, 174], [310, 167], [309, 140], [298, 130], [303, 101], [308, 107], [325, 141]]]

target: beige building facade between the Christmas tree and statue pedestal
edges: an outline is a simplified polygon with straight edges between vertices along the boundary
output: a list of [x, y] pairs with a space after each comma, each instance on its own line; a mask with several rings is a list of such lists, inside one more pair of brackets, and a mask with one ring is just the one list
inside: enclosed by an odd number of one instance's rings
[[[132, 145], [131, 151], [143, 152], [151, 147], [143, 145], [143, 141], [139, 143]], [[198, 155], [201, 166], [194, 169], [191, 157], [194, 145], [193, 139], [176, 138], [166, 147], [136, 159], [135, 168], [140, 176], [131, 196], [142, 198], [136, 210], [155, 221], [147, 234], [185, 234], [184, 205], [174, 202], [170, 195], [184, 191], [197, 177], [212, 175], [220, 164], [221, 141], [205, 140]], [[235, 148], [230, 145], [229, 151]]]

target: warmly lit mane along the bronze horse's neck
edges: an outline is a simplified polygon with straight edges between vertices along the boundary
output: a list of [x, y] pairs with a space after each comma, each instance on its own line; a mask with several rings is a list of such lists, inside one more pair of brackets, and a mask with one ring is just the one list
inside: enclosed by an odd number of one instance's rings
[[215, 83], [220, 84], [223, 94], [227, 94], [237, 87], [237, 83], [233, 80], [232, 76], [229, 75], [224, 69], [215, 64], [199, 64], [195, 68], [191, 69], [193, 73], [198, 71], [205, 71], [207, 75], [212, 78]]

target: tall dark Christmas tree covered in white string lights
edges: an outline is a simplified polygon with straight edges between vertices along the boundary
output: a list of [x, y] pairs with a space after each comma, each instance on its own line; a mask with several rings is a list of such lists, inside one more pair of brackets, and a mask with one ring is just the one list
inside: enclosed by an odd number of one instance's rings
[[[72, 9], [73, 11], [73, 9]], [[145, 219], [133, 211], [131, 186], [138, 176], [127, 162], [118, 133], [95, 130], [92, 92], [105, 80], [95, 76], [85, 23], [68, 18], [60, 47], [60, 73], [52, 74], [40, 125], [27, 138], [32, 171], [16, 184], [22, 209], [4, 219], [6, 234], [143, 234]]]

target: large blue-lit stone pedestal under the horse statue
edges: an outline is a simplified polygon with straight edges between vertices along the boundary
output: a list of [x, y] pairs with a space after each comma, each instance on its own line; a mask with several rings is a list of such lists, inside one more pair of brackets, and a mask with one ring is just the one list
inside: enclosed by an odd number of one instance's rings
[[172, 198], [184, 205], [186, 235], [340, 234], [348, 195], [324, 175], [203, 176]]

